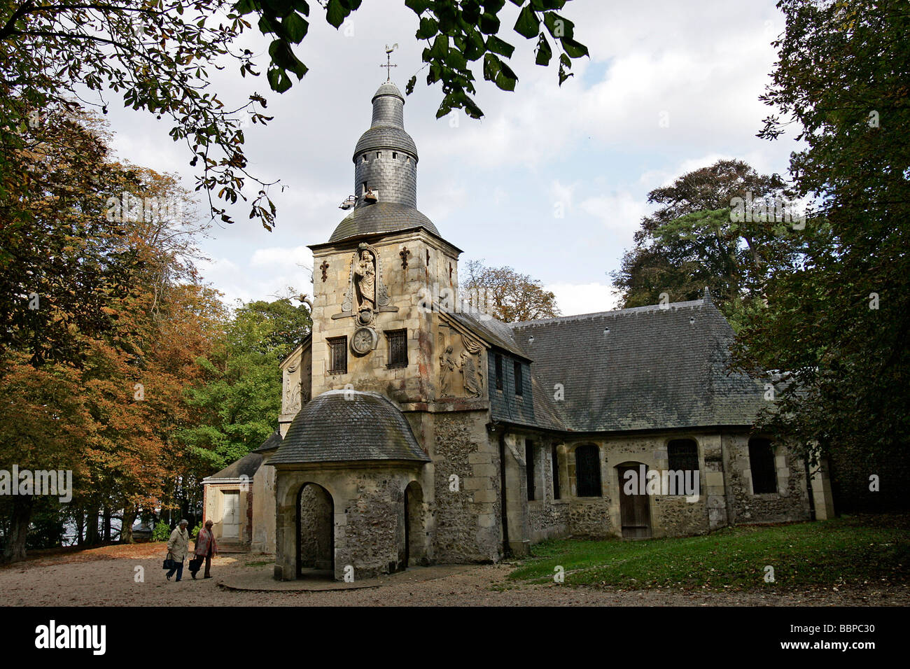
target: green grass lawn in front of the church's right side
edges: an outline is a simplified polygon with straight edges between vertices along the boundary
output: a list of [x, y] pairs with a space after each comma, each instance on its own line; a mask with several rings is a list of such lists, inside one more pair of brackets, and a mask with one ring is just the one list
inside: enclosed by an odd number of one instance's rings
[[[823, 522], [735, 527], [704, 536], [644, 541], [542, 542], [509, 578], [622, 589], [750, 590], [803, 586], [904, 583], [910, 565], [910, 519], [844, 517]], [[774, 583], [765, 583], [765, 565]]]

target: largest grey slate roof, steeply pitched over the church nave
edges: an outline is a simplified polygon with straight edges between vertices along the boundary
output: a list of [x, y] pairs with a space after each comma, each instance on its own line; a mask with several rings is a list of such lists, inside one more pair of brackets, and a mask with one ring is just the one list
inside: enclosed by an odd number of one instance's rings
[[[761, 384], [724, 369], [733, 329], [710, 298], [510, 327], [533, 360], [541, 427], [751, 425], [763, 406]], [[556, 384], [564, 388], [563, 400], [554, 398]]]

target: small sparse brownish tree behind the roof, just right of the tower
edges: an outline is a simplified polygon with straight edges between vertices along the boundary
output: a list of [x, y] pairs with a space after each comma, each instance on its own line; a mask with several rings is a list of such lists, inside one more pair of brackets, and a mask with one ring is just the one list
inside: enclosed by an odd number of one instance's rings
[[467, 278], [461, 282], [462, 299], [477, 296], [481, 310], [504, 323], [552, 319], [560, 315], [556, 296], [543, 288], [540, 279], [531, 279], [510, 267], [488, 268], [481, 260], [462, 266]]

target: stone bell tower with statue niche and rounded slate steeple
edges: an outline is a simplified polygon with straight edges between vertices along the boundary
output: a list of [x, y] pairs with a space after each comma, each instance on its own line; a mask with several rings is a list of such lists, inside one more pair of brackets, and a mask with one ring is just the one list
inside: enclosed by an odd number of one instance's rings
[[417, 208], [417, 145], [404, 96], [386, 81], [354, 147], [349, 211], [313, 245], [312, 396], [379, 392], [402, 407], [435, 399], [432, 296], [458, 287], [459, 248]]

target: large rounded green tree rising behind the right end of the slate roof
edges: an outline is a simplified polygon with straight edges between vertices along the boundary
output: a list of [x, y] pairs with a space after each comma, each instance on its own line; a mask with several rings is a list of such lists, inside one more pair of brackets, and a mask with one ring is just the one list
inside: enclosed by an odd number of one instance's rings
[[781, 177], [741, 160], [719, 160], [652, 190], [648, 201], [662, 207], [642, 218], [635, 246], [612, 274], [622, 307], [699, 299], [708, 287], [738, 328], [763, 303], [763, 280], [801, 258], [803, 239], [793, 230], [803, 222], [787, 193]]

